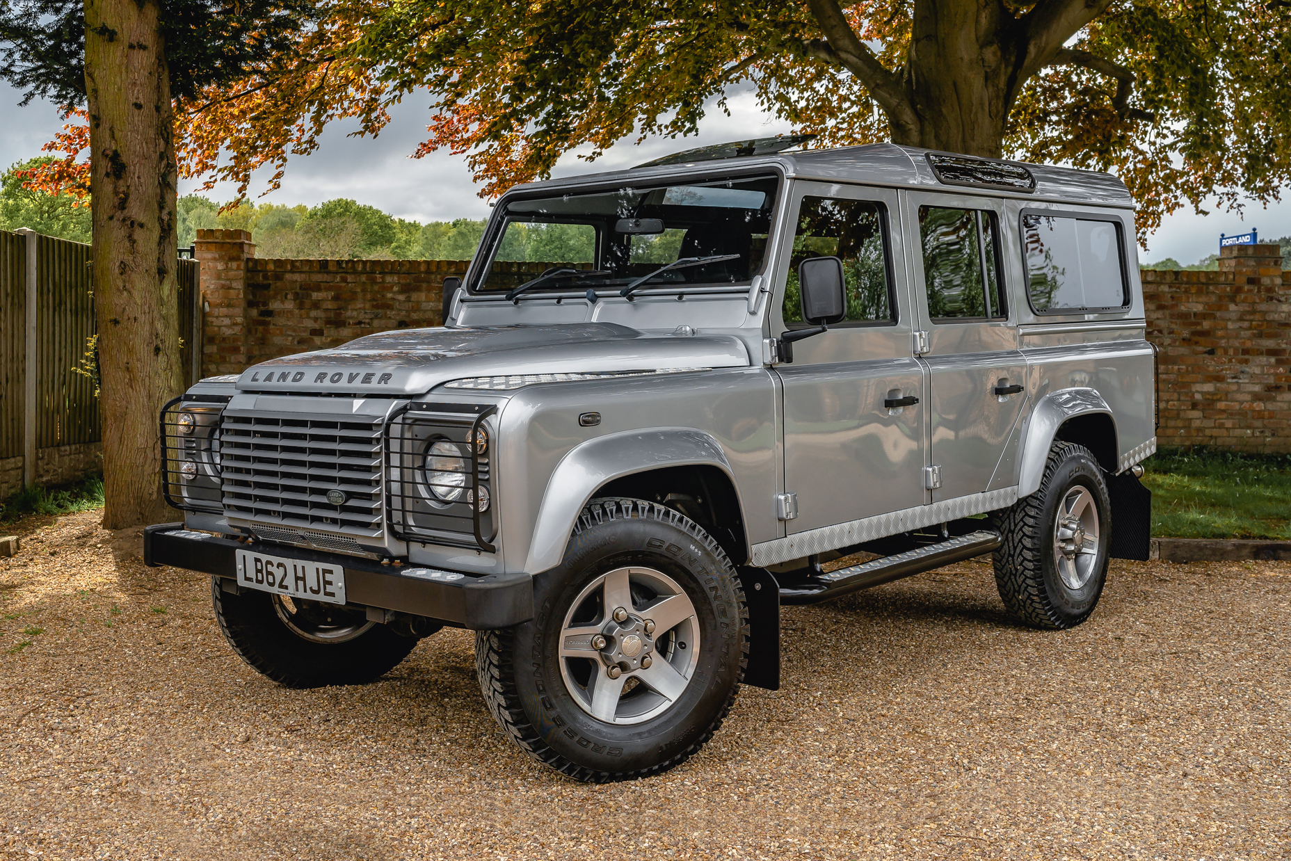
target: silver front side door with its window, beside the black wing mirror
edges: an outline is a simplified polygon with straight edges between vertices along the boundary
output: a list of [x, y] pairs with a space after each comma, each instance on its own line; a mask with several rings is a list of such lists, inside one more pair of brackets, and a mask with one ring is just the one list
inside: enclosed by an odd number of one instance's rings
[[[799, 182], [789, 200], [791, 259], [775, 275], [773, 334], [803, 328], [798, 265], [837, 256], [847, 319], [793, 345], [784, 385], [785, 491], [797, 494], [789, 534], [923, 505], [924, 370], [910, 345], [913, 314], [896, 192]], [[785, 238], [786, 241], [789, 238]], [[913, 399], [913, 400], [910, 400]], [[884, 401], [908, 401], [889, 407]], [[846, 532], [846, 529], [843, 531]], [[835, 546], [852, 543], [846, 534]]]

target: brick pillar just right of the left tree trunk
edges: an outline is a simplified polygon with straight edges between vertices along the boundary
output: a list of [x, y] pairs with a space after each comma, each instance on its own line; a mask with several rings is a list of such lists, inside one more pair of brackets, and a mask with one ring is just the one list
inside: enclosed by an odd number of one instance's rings
[[250, 231], [199, 230], [194, 257], [201, 266], [201, 376], [241, 373], [247, 358], [247, 258]]

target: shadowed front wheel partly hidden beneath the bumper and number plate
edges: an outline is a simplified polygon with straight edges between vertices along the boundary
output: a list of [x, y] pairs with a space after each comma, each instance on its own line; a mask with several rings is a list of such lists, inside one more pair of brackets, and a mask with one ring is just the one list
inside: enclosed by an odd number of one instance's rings
[[289, 688], [367, 684], [395, 667], [417, 645], [364, 611], [243, 590], [210, 578], [210, 596], [229, 645], [253, 670]]

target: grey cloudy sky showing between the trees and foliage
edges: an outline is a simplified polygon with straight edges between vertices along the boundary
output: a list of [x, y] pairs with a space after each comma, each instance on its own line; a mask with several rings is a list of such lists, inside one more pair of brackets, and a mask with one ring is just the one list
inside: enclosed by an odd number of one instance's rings
[[[57, 112], [48, 103], [32, 102], [17, 107], [19, 93], [0, 84], [0, 168], [40, 155], [40, 146], [61, 128]], [[483, 218], [488, 204], [478, 195], [466, 160], [448, 152], [425, 159], [409, 159], [417, 143], [425, 139], [429, 121], [429, 97], [409, 98], [392, 111], [394, 121], [377, 138], [347, 137], [358, 127], [340, 123], [323, 134], [318, 151], [292, 159], [283, 187], [263, 200], [281, 204], [314, 205], [333, 198], [352, 198], [403, 218], [447, 221]], [[713, 110], [700, 124], [700, 134], [686, 139], [651, 138], [636, 146], [631, 139], [620, 142], [604, 156], [589, 164], [569, 154], [556, 165], [555, 176], [590, 170], [608, 170], [640, 164], [676, 150], [719, 143], [747, 137], [766, 137], [788, 132], [789, 125], [758, 110], [750, 93], [729, 99], [731, 116]], [[181, 183], [181, 194], [196, 187]], [[252, 195], [263, 190], [253, 187]], [[232, 198], [231, 187], [205, 192], [216, 200]], [[1259, 228], [1263, 236], [1276, 239], [1291, 235], [1291, 203], [1283, 201], [1264, 209], [1248, 204], [1245, 217], [1216, 212], [1197, 216], [1179, 210], [1166, 218], [1162, 227], [1148, 239], [1141, 259], [1157, 261], [1174, 257], [1192, 263], [1214, 253], [1220, 232], [1245, 232]]]

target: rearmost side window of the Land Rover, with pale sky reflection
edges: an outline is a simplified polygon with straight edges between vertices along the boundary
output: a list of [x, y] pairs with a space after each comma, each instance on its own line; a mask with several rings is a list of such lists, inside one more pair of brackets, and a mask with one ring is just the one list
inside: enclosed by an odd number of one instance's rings
[[1051, 314], [1124, 307], [1122, 241], [1117, 221], [1022, 213], [1032, 305]]

